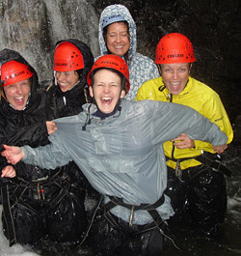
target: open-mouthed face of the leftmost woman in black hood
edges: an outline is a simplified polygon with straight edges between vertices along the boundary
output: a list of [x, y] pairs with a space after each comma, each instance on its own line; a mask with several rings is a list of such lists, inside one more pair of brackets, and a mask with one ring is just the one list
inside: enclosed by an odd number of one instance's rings
[[11, 103], [14, 109], [23, 110], [27, 104], [30, 94], [30, 79], [4, 86], [6, 99]]

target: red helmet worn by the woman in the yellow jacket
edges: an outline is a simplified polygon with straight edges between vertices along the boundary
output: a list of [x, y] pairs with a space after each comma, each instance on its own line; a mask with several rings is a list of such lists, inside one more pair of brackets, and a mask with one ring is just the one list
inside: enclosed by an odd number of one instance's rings
[[164, 36], [156, 47], [156, 64], [195, 62], [193, 44], [179, 33]]

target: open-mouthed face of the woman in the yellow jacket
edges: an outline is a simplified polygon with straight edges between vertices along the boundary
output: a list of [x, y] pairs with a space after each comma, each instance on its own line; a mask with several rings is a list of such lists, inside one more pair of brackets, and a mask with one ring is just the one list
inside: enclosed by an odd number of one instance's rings
[[187, 84], [190, 73], [190, 64], [161, 64], [160, 67], [165, 86], [173, 95], [178, 95]]

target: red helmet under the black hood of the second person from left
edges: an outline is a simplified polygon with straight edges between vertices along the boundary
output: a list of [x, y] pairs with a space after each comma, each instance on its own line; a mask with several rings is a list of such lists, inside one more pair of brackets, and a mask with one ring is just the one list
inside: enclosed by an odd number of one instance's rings
[[80, 50], [72, 43], [60, 43], [54, 52], [54, 71], [77, 71], [84, 69]]

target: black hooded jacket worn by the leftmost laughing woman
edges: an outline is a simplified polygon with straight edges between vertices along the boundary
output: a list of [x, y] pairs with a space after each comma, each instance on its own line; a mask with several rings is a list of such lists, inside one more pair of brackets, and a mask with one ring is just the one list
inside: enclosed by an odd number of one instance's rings
[[[46, 129], [46, 111], [45, 95], [38, 92], [38, 75], [37, 72], [26, 62], [21, 55], [13, 50], [4, 49], [0, 52], [0, 63], [15, 60], [26, 64], [34, 72], [33, 84], [31, 87], [31, 96], [24, 110], [14, 110], [7, 100], [0, 100], [0, 145], [23, 146], [31, 145], [32, 147], [42, 146], [48, 143], [48, 133]], [[1, 156], [1, 170], [8, 165], [5, 157]], [[22, 161], [14, 166], [16, 175], [26, 181], [39, 179], [48, 175], [47, 170], [41, 170], [38, 166], [26, 164]]]

